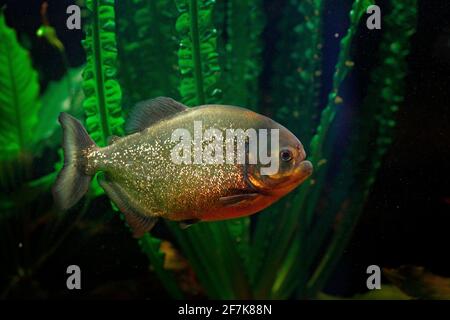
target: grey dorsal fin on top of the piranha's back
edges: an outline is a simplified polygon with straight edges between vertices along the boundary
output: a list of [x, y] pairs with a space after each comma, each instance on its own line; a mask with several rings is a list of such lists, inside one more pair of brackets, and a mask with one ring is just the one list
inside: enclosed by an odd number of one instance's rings
[[141, 101], [131, 111], [125, 130], [128, 134], [142, 131], [152, 124], [186, 109], [184, 104], [167, 97]]

